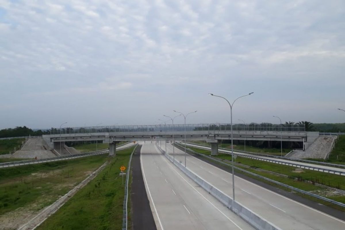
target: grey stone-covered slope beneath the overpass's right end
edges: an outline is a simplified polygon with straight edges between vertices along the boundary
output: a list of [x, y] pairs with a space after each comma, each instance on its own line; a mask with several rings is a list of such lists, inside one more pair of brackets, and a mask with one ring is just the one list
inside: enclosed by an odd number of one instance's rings
[[325, 159], [332, 151], [332, 144], [337, 136], [320, 136], [305, 151], [294, 151], [289, 154], [292, 159], [319, 158]]

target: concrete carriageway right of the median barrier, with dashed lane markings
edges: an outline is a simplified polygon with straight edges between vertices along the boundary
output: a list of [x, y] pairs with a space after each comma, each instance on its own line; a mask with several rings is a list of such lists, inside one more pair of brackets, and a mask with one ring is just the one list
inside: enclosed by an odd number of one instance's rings
[[[165, 143], [161, 147], [165, 150]], [[172, 155], [172, 146], [167, 143]], [[175, 159], [184, 164], [184, 152], [175, 148]], [[187, 154], [187, 168], [232, 197], [232, 175]], [[281, 229], [344, 230], [345, 222], [235, 176], [236, 201]]]

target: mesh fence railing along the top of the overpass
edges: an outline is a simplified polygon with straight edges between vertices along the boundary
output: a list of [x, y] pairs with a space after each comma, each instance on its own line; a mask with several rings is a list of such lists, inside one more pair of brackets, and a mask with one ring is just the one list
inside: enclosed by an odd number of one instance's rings
[[[250, 123], [233, 124], [234, 131], [280, 131], [283, 132], [304, 132], [304, 124], [268, 124]], [[74, 134], [74, 133], [104, 133], [104, 132], [171, 132], [171, 131], [230, 131], [230, 124], [156, 124], [156, 125], [134, 125], [134, 126], [93, 126], [51, 129], [50, 134]]]

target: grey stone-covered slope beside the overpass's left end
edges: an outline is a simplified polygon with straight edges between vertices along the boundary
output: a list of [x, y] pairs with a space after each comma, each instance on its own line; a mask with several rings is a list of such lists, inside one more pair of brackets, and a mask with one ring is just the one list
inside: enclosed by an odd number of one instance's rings
[[29, 138], [20, 150], [13, 153], [12, 158], [43, 159], [56, 156], [42, 138]]

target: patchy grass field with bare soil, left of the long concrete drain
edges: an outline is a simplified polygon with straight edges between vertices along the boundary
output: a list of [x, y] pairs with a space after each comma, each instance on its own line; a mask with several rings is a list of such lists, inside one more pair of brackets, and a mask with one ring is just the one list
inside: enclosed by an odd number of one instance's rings
[[107, 160], [104, 155], [0, 169], [0, 215], [34, 204], [39, 210]]

